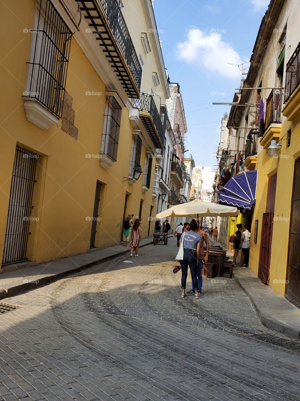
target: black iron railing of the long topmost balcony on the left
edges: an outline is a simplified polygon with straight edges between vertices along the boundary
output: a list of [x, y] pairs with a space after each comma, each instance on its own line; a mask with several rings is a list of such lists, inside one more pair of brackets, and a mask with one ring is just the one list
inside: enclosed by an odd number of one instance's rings
[[124, 58], [127, 62], [128, 67], [134, 77], [134, 81], [138, 88], [141, 87], [142, 81], [142, 67], [138, 61], [138, 56], [134, 49], [124, 16], [118, 5], [117, 0], [95, 0], [100, 3], [109, 22], [111, 30], [114, 32], [114, 36]]

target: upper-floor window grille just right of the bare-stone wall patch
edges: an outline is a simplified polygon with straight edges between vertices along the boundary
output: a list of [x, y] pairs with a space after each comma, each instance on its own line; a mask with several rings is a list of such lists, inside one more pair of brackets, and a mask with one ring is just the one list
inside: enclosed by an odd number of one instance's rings
[[101, 153], [117, 160], [122, 107], [114, 96], [106, 96]]

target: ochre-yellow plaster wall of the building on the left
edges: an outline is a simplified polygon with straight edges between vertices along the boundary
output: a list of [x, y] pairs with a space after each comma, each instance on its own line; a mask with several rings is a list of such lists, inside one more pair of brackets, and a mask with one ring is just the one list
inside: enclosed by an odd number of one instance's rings
[[[26, 90], [32, 33], [24, 33], [23, 28], [33, 26], [36, 3], [34, 0], [5, 0], [4, 3], [7, 3], [7, 7], [2, 7], [2, 29], [10, 34], [7, 35], [7, 41], [0, 44], [1, 54], [6, 56], [0, 65], [2, 93], [5, 93], [1, 102], [3, 123], [0, 128], [0, 248], [4, 245], [16, 144], [40, 155], [32, 210], [32, 216], [39, 220], [30, 222], [29, 260], [40, 263], [90, 249], [92, 222], [86, 218], [93, 214], [97, 180], [103, 185], [99, 207], [102, 220], [97, 226], [96, 247], [120, 243], [126, 193], [130, 194], [127, 213], [138, 215], [140, 200], [144, 200], [142, 236], [146, 237], [150, 206], [154, 206], [152, 216], [156, 211], [156, 200], [152, 199], [155, 159], [148, 192], [142, 193], [142, 175], [133, 185], [128, 181], [123, 182], [123, 177], [128, 177], [132, 144], [128, 109], [122, 109], [117, 162], [106, 170], [100, 166], [98, 158], [86, 157], [87, 154], [99, 155], [101, 149], [106, 87], [72, 38], [66, 91], [73, 98], [72, 109], [75, 110], [74, 125], [78, 128], [78, 139], [63, 132], [60, 122], [48, 130], [41, 130], [29, 122], [22, 94]], [[18, 29], [12, 30], [12, 26]], [[102, 94], [87, 96], [86, 91]], [[140, 159], [142, 170], [145, 157], [146, 148], [143, 145]], [[153, 225], [152, 221], [150, 235]]]

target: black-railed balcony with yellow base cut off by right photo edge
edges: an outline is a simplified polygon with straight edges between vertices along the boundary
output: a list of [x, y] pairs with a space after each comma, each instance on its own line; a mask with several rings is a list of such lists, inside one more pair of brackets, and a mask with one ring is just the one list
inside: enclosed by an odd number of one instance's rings
[[288, 121], [300, 118], [300, 43], [286, 65], [285, 98], [282, 114]]

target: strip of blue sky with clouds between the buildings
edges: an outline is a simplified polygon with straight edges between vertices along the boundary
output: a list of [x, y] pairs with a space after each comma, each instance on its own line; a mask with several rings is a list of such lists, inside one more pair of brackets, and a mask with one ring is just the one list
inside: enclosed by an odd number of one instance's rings
[[[186, 155], [215, 168], [222, 114], [240, 84], [268, 0], [156, 0], [154, 12], [170, 80], [180, 83], [188, 124]], [[249, 64], [246, 64], [246, 66]], [[224, 99], [224, 100], [222, 100]], [[207, 124], [211, 123], [211, 124]], [[205, 170], [207, 176], [209, 169]], [[211, 182], [211, 178], [206, 178]]]

